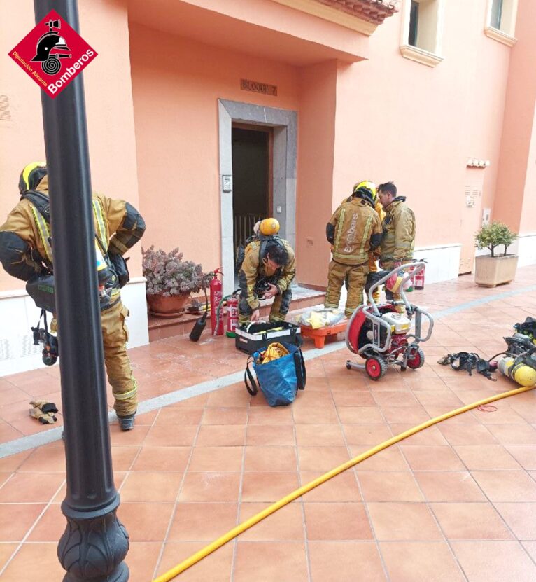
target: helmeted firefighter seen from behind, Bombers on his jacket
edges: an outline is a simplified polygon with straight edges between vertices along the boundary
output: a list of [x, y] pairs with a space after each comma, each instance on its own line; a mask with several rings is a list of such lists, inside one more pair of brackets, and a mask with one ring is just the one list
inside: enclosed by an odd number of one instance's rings
[[362, 303], [369, 272], [369, 252], [381, 242], [381, 222], [374, 210], [376, 186], [371, 181], [355, 184], [351, 200], [337, 208], [326, 225], [332, 244], [332, 261], [327, 275], [325, 307], [339, 307], [341, 286], [346, 282], [348, 298], [344, 312], [349, 317]]

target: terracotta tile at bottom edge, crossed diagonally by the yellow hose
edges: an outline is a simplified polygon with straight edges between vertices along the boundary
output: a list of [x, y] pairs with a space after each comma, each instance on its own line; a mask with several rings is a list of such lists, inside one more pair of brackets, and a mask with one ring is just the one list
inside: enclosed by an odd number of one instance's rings
[[[190, 555], [204, 547], [204, 542], [169, 542], [166, 543], [157, 575], [175, 567]], [[223, 548], [211, 553], [201, 562], [181, 574], [181, 582], [229, 582], [232, 578], [232, 559], [234, 543], [227, 543]]]

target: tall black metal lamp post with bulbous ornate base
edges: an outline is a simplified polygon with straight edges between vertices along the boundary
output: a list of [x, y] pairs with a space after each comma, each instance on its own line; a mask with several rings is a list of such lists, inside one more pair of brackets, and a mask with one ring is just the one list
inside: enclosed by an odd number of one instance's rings
[[[36, 22], [53, 9], [78, 31], [76, 0], [34, 0], [34, 9]], [[82, 75], [41, 100], [65, 419], [67, 526], [58, 557], [64, 582], [124, 582], [129, 542], [115, 514]]]

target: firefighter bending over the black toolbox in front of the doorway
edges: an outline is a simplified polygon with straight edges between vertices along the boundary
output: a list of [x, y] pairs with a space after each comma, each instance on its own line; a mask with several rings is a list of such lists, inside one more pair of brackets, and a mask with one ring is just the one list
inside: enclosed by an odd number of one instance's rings
[[278, 223], [265, 219], [244, 250], [239, 268], [239, 324], [260, 319], [260, 299], [271, 299], [269, 321], [285, 321], [292, 299], [290, 284], [296, 274], [294, 251], [278, 237]]

